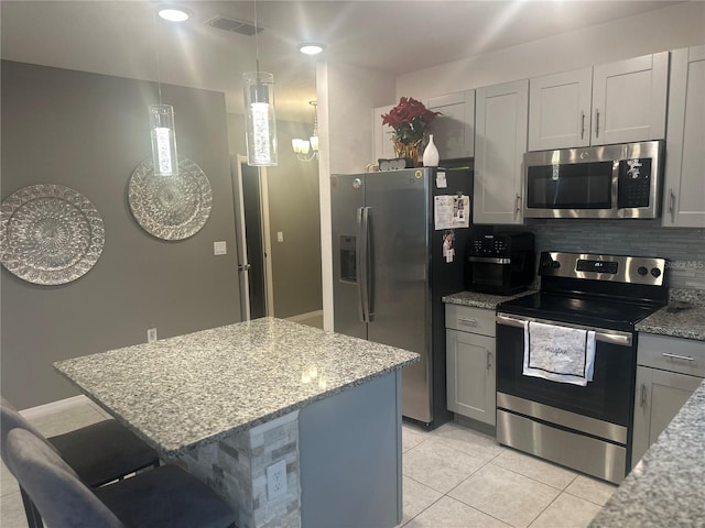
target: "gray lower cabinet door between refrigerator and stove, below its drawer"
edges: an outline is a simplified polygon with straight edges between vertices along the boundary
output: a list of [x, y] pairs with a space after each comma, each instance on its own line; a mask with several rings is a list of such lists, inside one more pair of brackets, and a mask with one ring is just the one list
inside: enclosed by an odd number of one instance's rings
[[448, 410], [495, 425], [495, 339], [446, 330]]

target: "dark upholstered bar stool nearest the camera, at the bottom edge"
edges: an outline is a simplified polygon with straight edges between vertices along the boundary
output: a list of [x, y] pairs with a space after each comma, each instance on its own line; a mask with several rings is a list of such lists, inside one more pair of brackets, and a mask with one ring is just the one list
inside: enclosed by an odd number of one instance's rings
[[52, 528], [231, 528], [235, 512], [175, 465], [89, 488], [25, 429], [8, 433], [7, 464]]

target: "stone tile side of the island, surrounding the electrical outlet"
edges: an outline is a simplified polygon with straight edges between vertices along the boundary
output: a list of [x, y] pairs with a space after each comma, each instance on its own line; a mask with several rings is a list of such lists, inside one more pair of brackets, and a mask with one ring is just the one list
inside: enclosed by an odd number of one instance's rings
[[[286, 494], [269, 499], [267, 468], [286, 463]], [[299, 411], [169, 459], [237, 512], [238, 528], [300, 528]]]

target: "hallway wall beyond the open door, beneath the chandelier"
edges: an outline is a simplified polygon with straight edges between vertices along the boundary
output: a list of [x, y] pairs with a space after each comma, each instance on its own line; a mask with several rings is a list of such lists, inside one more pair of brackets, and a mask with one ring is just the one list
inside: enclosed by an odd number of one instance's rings
[[[293, 138], [308, 138], [312, 129], [313, 113], [307, 123], [278, 119], [279, 165], [267, 167], [275, 317], [323, 307], [318, 163], [300, 162], [291, 148]], [[230, 154], [246, 154], [242, 116], [229, 114], [228, 130]], [[276, 242], [278, 231], [283, 242]]]

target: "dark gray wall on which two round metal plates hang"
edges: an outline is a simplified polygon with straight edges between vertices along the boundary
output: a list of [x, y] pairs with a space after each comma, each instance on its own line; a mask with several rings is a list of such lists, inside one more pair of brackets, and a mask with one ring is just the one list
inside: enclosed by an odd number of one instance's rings
[[[213, 188], [210, 218], [180, 242], [156, 239], [131, 216], [127, 186], [151, 155], [147, 107], [156, 86], [2, 62], [1, 197], [51, 183], [85, 195], [102, 216], [104, 252], [86, 275], [39, 286], [0, 272], [2, 394], [19, 408], [77, 394], [52, 363], [240, 320], [225, 96], [162, 86], [178, 152]], [[213, 255], [226, 241], [228, 254]]]

